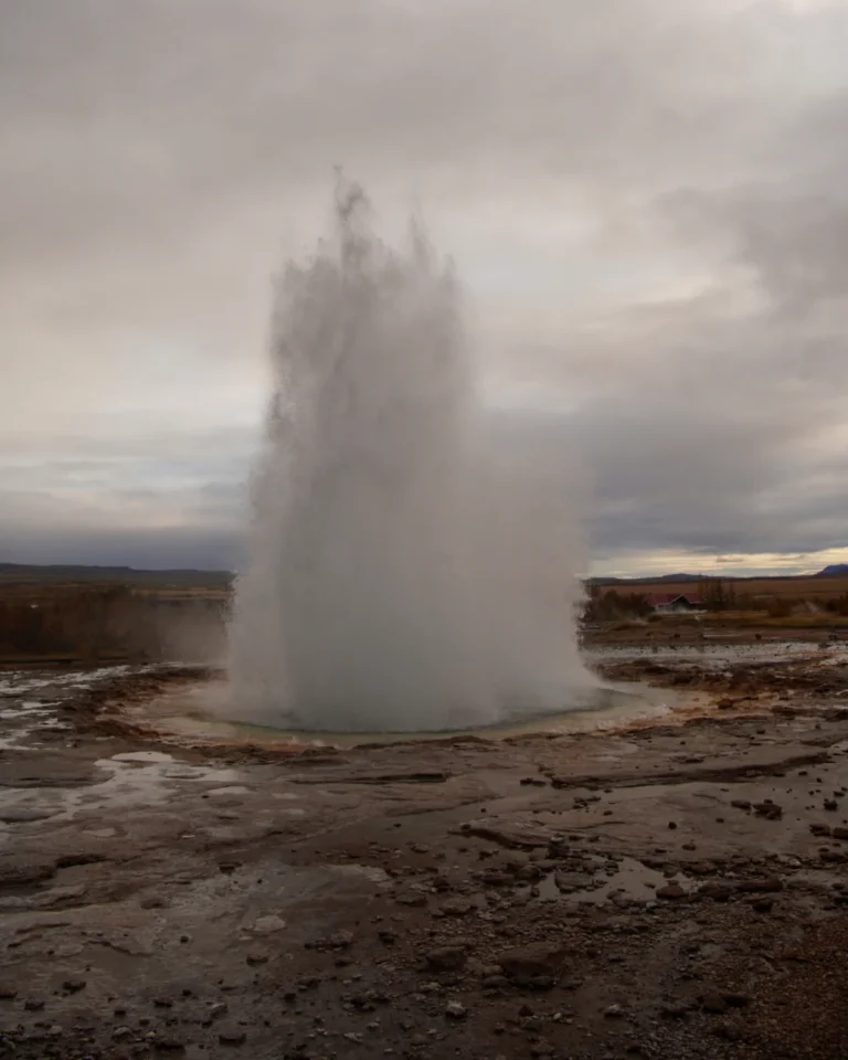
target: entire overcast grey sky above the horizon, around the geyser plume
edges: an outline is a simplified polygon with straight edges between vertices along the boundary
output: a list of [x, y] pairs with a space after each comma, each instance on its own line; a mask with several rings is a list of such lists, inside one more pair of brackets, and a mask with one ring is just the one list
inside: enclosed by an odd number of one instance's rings
[[847, 560], [848, 0], [3, 0], [0, 561], [226, 566], [271, 275], [424, 213], [597, 572]]

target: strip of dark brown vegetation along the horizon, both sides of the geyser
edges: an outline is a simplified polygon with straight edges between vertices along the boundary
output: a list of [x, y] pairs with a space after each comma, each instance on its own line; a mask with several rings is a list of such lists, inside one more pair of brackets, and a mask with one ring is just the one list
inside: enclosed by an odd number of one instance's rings
[[[218, 573], [131, 572], [126, 581], [50, 581], [0, 572], [0, 665], [29, 662], [197, 661], [224, 653], [231, 586]], [[145, 576], [142, 576], [145, 575]], [[703, 623], [717, 628], [841, 628], [848, 625], [845, 577], [708, 579], [623, 582], [587, 589], [584, 619], [593, 626], [644, 627], [671, 635]], [[649, 594], [699, 596], [707, 616], [653, 614]], [[654, 630], [651, 634], [649, 630]], [[753, 634], [752, 634], [753, 635]]]

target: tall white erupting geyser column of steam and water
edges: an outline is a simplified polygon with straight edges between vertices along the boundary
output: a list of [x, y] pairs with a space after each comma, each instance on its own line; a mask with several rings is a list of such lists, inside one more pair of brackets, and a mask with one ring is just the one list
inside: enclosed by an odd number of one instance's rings
[[283, 276], [271, 352], [230, 716], [401, 732], [575, 706], [595, 682], [569, 497], [554, 462], [495, 438], [421, 229], [386, 246], [342, 189], [332, 239]]

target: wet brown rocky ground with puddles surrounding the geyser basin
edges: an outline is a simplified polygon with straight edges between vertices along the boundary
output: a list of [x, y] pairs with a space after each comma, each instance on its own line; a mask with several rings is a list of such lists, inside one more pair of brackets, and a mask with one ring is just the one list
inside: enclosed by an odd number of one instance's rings
[[342, 749], [0, 675], [0, 1056], [845, 1060], [845, 648], [595, 661], [662, 691]]

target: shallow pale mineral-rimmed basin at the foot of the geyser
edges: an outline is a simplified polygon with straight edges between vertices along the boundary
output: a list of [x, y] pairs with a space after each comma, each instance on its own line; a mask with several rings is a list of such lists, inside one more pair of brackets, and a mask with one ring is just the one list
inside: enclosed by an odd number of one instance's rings
[[162, 696], [127, 708], [132, 721], [152, 727], [163, 736], [192, 744], [329, 745], [444, 740], [463, 734], [500, 740], [531, 733], [568, 733], [638, 727], [676, 710], [691, 707], [696, 697], [644, 685], [618, 683], [586, 691], [568, 710], [542, 717], [522, 717], [497, 724], [452, 731], [333, 732], [296, 727], [255, 724], [227, 718], [230, 690], [224, 681], [180, 685]]

